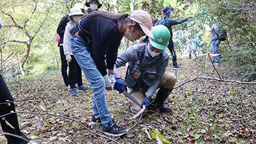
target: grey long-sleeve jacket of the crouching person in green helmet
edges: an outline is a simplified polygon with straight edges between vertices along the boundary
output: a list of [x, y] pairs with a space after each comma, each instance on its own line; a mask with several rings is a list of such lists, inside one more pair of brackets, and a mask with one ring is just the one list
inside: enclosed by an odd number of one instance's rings
[[[151, 97], [156, 92], [157, 87], [160, 83], [161, 77], [163, 76], [165, 69], [168, 65], [169, 55], [166, 51], [162, 51], [161, 54], [159, 54], [158, 56], [151, 58], [150, 54], [148, 53], [147, 44], [137, 44], [132, 47], [129, 47], [129, 49], [121, 52], [117, 57], [114, 73], [115, 73], [115, 77], [120, 76], [116, 68], [121, 67], [127, 62], [129, 63], [129, 66], [127, 68], [127, 74], [132, 72], [132, 69], [135, 67], [136, 62], [138, 60], [138, 54], [139, 54], [139, 51], [141, 51], [140, 49], [144, 49], [143, 50], [144, 53], [142, 53], [143, 56], [141, 57], [141, 61], [140, 61], [141, 79], [140, 81], [138, 81], [138, 83], [145, 80], [143, 77], [147, 76], [147, 71], [156, 72], [156, 79], [150, 80], [150, 83], [152, 82], [154, 84], [149, 86], [147, 90], [147, 95]], [[157, 63], [157, 65], [155, 65], [155, 63]]]

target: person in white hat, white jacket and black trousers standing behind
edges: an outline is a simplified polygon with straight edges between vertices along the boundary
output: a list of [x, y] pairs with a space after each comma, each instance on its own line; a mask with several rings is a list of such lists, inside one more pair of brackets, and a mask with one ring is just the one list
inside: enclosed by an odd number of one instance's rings
[[82, 72], [81, 68], [79, 67], [76, 59], [74, 58], [71, 49], [70, 49], [70, 37], [71, 34], [69, 33], [70, 29], [72, 29], [76, 23], [79, 21], [81, 17], [83, 17], [84, 13], [81, 11], [80, 8], [74, 7], [68, 13], [70, 20], [65, 28], [64, 33], [64, 40], [63, 40], [63, 49], [66, 60], [68, 61], [68, 81], [70, 84], [70, 95], [76, 95], [76, 82], [77, 82], [77, 91], [83, 92], [89, 90], [88, 88], [84, 88], [83, 81], [82, 81]]

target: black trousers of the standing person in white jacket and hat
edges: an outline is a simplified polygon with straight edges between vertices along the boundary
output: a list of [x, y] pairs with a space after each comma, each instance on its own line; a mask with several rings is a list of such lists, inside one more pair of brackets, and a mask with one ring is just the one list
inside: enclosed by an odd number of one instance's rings
[[78, 65], [76, 58], [73, 55], [71, 56], [71, 61], [68, 62], [69, 72], [68, 72], [68, 80], [70, 84], [70, 88], [76, 88], [75, 84], [77, 83], [78, 87], [83, 85], [82, 81], [82, 70]]

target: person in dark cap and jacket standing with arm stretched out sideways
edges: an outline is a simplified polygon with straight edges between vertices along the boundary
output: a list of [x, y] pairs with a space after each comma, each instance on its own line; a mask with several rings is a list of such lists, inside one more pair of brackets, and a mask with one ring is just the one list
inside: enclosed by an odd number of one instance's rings
[[169, 51], [172, 54], [172, 62], [173, 62], [173, 69], [179, 69], [180, 67], [178, 66], [177, 63], [177, 57], [173, 48], [173, 40], [172, 40], [172, 26], [176, 25], [176, 24], [182, 24], [183, 22], [186, 22], [188, 19], [193, 18], [193, 16], [189, 15], [188, 17], [186, 17], [185, 19], [180, 19], [180, 20], [176, 20], [176, 19], [171, 19], [170, 15], [171, 15], [171, 11], [172, 11], [172, 7], [169, 6], [165, 6], [163, 9], [163, 19], [165, 19], [165, 26], [169, 29], [171, 37], [169, 40], [169, 45], [167, 46]]

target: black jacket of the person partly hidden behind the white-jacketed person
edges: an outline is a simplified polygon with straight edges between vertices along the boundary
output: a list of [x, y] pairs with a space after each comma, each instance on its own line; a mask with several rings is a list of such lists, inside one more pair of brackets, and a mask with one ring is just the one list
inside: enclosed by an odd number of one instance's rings
[[67, 26], [67, 23], [69, 22], [68, 20], [69, 15], [65, 15], [64, 17], [61, 18], [60, 23], [57, 28], [57, 33], [60, 35], [60, 43], [59, 45], [63, 44], [63, 39], [64, 39], [64, 33], [65, 33], [65, 28]]

